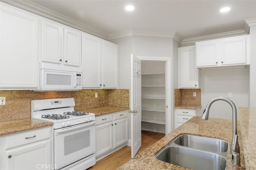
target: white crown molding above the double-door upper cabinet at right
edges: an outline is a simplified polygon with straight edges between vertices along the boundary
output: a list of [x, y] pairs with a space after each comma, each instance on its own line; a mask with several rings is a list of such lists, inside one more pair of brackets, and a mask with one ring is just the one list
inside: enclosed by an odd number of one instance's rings
[[229, 31], [224, 33], [217, 33], [217, 34], [211, 34], [211, 35], [204, 35], [199, 37], [192, 37], [192, 38], [186, 38], [183, 39], [182, 45], [184, 44], [191, 44], [198, 41], [206, 41], [211, 39], [218, 39], [218, 38], [225, 38], [225, 37], [232, 37], [232, 36], [238, 36], [238, 35], [246, 35], [247, 32], [244, 29], [240, 29], [237, 31]]

